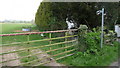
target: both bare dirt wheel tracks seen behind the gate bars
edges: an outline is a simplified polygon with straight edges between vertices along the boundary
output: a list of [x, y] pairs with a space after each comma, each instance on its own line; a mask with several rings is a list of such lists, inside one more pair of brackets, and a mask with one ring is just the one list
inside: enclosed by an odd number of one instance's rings
[[[15, 51], [15, 50], [19, 50], [23, 47], [20, 47], [20, 46], [7, 46], [7, 47], [2, 47], [0, 49], [0, 53], [4, 53], [4, 52], [8, 52], [8, 51]], [[42, 53], [43, 51], [40, 50], [40, 49], [34, 49], [34, 50], [30, 50], [31, 54], [34, 54], [34, 53]], [[47, 54], [47, 53], [43, 53], [43, 54], [38, 54], [38, 55], [35, 55], [38, 59], [42, 59], [42, 58], [45, 58], [45, 57], [49, 57], [50, 55]], [[20, 56], [17, 54], [17, 53], [10, 53], [10, 54], [5, 54], [5, 55], [0, 55], [0, 61], [7, 61], [7, 60], [11, 60], [11, 59], [16, 59], [16, 58], [19, 58]], [[49, 57], [49, 58], [45, 58], [43, 60], [40, 60], [39, 62], [35, 63], [35, 64], [32, 64], [30, 66], [34, 66], [34, 65], [37, 65], [37, 64], [41, 64], [41, 63], [45, 63], [45, 62], [48, 62], [50, 61], [49, 63], [46, 63], [44, 64], [43, 66], [65, 66], [63, 64], [60, 64], [60, 63], [57, 63], [53, 58]], [[2, 63], [0, 64], [0, 67], [2, 66], [18, 66], [20, 65], [21, 62], [20, 62], [20, 59], [17, 59], [17, 60], [13, 60], [13, 61], [9, 61], [9, 62], [5, 62], [5, 63]], [[52, 67], [53, 68], [53, 67]]]

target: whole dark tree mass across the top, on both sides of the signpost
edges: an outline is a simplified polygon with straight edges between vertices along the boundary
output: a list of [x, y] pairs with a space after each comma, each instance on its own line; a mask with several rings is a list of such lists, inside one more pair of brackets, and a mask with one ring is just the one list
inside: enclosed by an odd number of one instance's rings
[[[36, 13], [35, 23], [40, 30], [66, 29], [66, 17], [70, 17], [77, 24], [85, 24], [92, 29], [101, 26], [101, 16], [96, 11], [105, 7], [107, 15], [105, 24], [113, 28], [117, 17], [117, 3], [97, 2], [42, 2]], [[113, 11], [115, 10], [115, 11]]]

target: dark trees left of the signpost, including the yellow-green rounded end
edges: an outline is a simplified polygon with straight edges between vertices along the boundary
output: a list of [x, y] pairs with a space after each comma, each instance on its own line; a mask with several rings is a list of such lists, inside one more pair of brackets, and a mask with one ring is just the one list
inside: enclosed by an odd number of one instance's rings
[[[36, 13], [35, 23], [40, 30], [58, 30], [66, 29], [65, 23], [67, 15], [72, 17], [79, 24], [91, 25], [91, 27], [98, 25], [98, 16], [93, 13], [96, 12], [94, 8], [95, 3], [75, 3], [75, 2], [42, 2]], [[89, 18], [88, 18], [89, 17]], [[89, 23], [87, 23], [89, 21]]]

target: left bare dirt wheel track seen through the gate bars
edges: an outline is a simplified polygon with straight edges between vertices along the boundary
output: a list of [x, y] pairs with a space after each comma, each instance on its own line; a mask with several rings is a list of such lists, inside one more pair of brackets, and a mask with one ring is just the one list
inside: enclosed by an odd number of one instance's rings
[[[14, 51], [19, 49], [19, 47], [16, 46], [7, 46], [7, 47], [0, 47], [0, 53], [4, 53], [4, 52], [8, 52], [8, 51]], [[7, 61], [10, 59], [15, 59], [18, 58], [18, 54], [17, 53], [10, 53], [10, 54], [5, 54], [5, 55], [0, 55], [0, 61]], [[20, 64], [20, 60], [13, 60], [13, 61], [9, 61], [9, 62], [5, 62], [0, 64], [1, 66], [18, 66]]]

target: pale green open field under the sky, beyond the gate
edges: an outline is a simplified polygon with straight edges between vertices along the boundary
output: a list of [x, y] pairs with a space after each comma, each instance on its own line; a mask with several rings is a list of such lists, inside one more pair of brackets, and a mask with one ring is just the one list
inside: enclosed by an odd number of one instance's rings
[[15, 30], [21, 30], [23, 26], [31, 25], [31, 23], [0, 23], [0, 33], [11, 33]]

